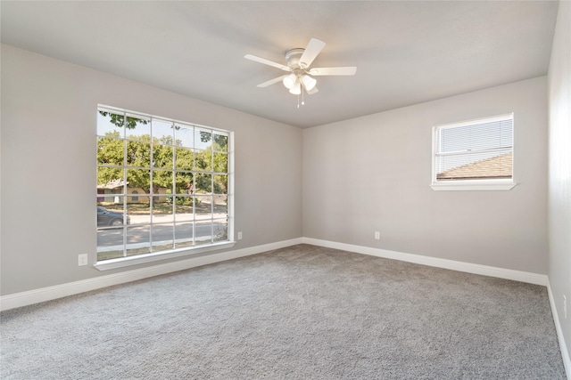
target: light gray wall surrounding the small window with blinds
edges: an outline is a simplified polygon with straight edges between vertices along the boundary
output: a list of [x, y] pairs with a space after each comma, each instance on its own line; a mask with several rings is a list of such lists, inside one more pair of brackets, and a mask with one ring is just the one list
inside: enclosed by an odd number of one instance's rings
[[[429, 187], [433, 125], [509, 112], [514, 189]], [[304, 236], [546, 274], [547, 120], [538, 77], [304, 130]]]

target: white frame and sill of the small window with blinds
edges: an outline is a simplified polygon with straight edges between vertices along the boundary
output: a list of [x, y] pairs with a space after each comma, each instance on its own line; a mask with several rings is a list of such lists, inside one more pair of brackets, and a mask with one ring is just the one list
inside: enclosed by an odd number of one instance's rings
[[[438, 132], [444, 128], [458, 128], [467, 125], [478, 125], [483, 123], [492, 123], [495, 121], [511, 119], [514, 122], [513, 113], [498, 115], [494, 117], [482, 117], [477, 119], [465, 120], [458, 123], [444, 124], [444, 125], [434, 125], [432, 128], [432, 182], [430, 187], [433, 190], [451, 190], [451, 191], [466, 191], [466, 190], [511, 190], [517, 185], [514, 180], [514, 167], [515, 167], [515, 155], [514, 155], [514, 144], [512, 142], [512, 174], [509, 179], [485, 179], [485, 180], [447, 180], [439, 181], [436, 177], [437, 173], [437, 139]], [[515, 128], [514, 128], [515, 134]], [[514, 139], [515, 140], [515, 139]]]

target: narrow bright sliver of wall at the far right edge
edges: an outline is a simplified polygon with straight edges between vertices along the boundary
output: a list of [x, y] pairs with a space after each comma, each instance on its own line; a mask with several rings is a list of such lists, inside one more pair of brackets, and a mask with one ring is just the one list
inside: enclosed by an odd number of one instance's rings
[[[559, 3], [549, 79], [549, 278], [567, 352], [571, 353], [571, 3], [568, 1]], [[563, 295], [567, 296], [567, 319]]]

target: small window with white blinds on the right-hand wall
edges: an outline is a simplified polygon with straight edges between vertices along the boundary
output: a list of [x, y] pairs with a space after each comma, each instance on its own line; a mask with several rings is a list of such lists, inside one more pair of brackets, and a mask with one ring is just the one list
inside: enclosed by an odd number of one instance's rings
[[513, 114], [433, 127], [434, 190], [510, 190]]

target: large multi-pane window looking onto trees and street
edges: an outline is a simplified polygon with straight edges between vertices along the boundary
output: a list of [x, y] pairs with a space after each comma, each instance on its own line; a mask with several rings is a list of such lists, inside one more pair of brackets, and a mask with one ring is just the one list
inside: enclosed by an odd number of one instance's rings
[[203, 125], [100, 107], [97, 262], [228, 242], [230, 138]]

